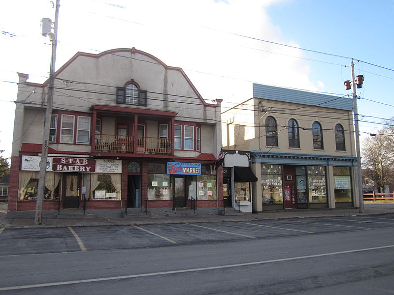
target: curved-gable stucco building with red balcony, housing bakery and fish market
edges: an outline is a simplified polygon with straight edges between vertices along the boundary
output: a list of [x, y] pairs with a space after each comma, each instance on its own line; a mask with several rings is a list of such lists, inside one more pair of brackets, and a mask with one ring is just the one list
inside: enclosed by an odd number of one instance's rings
[[[19, 74], [10, 216], [35, 210], [48, 81], [28, 78]], [[55, 73], [43, 215], [218, 213], [220, 103], [135, 48], [77, 53]]]

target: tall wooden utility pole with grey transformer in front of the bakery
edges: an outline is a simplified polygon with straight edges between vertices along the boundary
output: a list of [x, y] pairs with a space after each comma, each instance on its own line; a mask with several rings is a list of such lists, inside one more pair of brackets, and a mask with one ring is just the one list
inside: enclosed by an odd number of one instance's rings
[[47, 95], [47, 104], [45, 111], [44, 135], [42, 140], [40, 171], [38, 178], [37, 201], [35, 204], [34, 224], [36, 225], [41, 224], [42, 221], [42, 204], [43, 204], [44, 190], [45, 190], [45, 173], [46, 173], [46, 165], [48, 161], [49, 129], [50, 129], [51, 118], [52, 118], [53, 88], [55, 86], [55, 59], [56, 59], [56, 46], [58, 43], [59, 7], [60, 7], [60, 0], [56, 0], [55, 21], [53, 22], [54, 25], [53, 33], [44, 30], [44, 20], [46, 20], [46, 24], [48, 24], [48, 21], [50, 22], [50, 20], [48, 19], [42, 20], [42, 26], [43, 26], [42, 34], [49, 36], [49, 39], [52, 42], [52, 54], [51, 54], [51, 65], [49, 69], [49, 84], [48, 84], [48, 95]]

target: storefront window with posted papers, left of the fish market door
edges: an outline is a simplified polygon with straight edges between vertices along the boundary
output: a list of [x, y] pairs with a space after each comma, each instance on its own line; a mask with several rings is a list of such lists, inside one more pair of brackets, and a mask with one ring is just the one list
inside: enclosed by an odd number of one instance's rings
[[169, 175], [148, 174], [148, 200], [171, 200]]

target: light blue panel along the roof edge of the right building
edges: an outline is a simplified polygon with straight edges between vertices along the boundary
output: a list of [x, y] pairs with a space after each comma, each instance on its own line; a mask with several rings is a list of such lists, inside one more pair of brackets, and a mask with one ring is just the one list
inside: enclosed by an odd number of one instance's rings
[[353, 99], [253, 83], [253, 97], [353, 111]]

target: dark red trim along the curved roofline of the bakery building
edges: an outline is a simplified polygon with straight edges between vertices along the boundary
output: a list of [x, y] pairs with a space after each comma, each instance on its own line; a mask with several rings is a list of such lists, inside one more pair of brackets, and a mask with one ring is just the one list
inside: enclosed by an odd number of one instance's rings
[[[110, 49], [107, 51], [103, 51], [99, 54], [93, 54], [93, 53], [87, 53], [87, 52], [77, 52], [71, 59], [69, 59], [65, 64], [63, 64], [56, 72], [55, 72], [55, 78], [62, 73], [66, 67], [68, 67], [68, 65], [70, 65], [75, 59], [77, 59], [78, 57], [89, 57], [89, 58], [95, 58], [98, 59], [104, 55], [107, 54], [113, 54], [113, 53], [118, 53], [118, 52], [131, 52], [131, 54], [141, 54], [144, 55], [150, 59], [153, 59], [155, 61], [157, 61], [159, 64], [161, 64], [165, 69], [168, 70], [174, 70], [174, 71], [179, 71], [182, 76], [185, 78], [185, 80], [187, 81], [187, 83], [190, 85], [190, 87], [193, 89], [193, 91], [196, 93], [197, 97], [200, 99], [201, 103], [205, 106], [210, 106], [210, 107], [217, 107], [216, 104], [212, 104], [212, 103], [206, 103], [205, 100], [202, 98], [201, 94], [198, 92], [198, 90], [196, 89], [196, 87], [193, 85], [192, 81], [190, 81], [189, 77], [185, 74], [185, 72], [183, 71], [182, 68], [180, 67], [174, 67], [174, 66], [168, 66], [166, 65], [163, 61], [161, 61], [160, 59], [154, 57], [153, 55], [146, 53], [144, 51], [141, 50], [137, 50], [135, 49], [135, 47], [133, 48], [117, 48], [117, 49]], [[27, 74], [23, 74], [23, 73], [18, 73], [19, 77], [27, 77], [27, 79], [29, 78], [29, 75]], [[41, 86], [41, 87], [46, 87], [49, 83], [49, 79], [46, 80], [43, 84], [35, 84], [35, 83], [30, 83], [30, 82], [26, 82], [27, 85], [31, 85], [31, 86]]]

